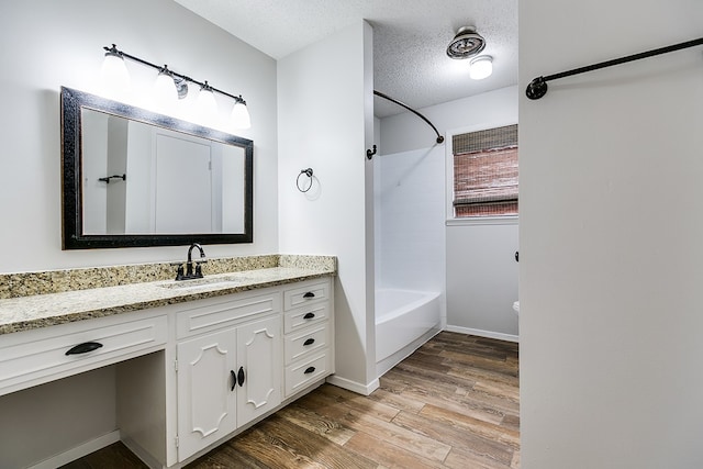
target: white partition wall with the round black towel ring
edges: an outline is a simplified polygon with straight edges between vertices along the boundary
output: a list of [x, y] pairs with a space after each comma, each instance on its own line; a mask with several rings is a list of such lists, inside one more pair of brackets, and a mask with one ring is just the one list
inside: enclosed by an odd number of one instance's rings
[[359, 22], [278, 63], [280, 250], [337, 256], [335, 379], [360, 392], [376, 379], [371, 35]]

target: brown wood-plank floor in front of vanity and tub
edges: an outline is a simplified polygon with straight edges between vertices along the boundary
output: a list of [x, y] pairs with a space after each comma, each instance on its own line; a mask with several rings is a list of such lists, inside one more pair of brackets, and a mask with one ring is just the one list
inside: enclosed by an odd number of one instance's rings
[[[443, 332], [371, 395], [324, 384], [187, 468], [517, 469], [517, 344]], [[65, 468], [112, 467], [144, 466], [116, 444]]]

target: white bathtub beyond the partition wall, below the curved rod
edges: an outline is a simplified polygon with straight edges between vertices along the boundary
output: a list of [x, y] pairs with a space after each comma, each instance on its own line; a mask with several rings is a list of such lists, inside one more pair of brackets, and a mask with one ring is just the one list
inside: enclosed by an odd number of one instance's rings
[[438, 292], [376, 290], [377, 376], [398, 365], [442, 327]]

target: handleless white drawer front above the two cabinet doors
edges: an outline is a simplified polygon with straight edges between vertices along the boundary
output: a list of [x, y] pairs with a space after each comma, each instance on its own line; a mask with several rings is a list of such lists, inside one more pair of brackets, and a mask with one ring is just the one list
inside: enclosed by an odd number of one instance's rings
[[192, 308], [178, 313], [176, 320], [176, 335], [178, 338], [194, 334], [216, 331], [235, 325], [243, 321], [256, 319], [259, 315], [281, 311], [280, 292], [267, 294], [242, 294], [228, 298], [226, 301], [210, 302], [203, 306]]

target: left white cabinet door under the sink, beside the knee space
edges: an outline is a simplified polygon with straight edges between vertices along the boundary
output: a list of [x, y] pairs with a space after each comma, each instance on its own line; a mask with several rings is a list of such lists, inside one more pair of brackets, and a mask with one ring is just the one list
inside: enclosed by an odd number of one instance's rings
[[227, 328], [178, 344], [178, 458], [233, 432], [236, 332]]

